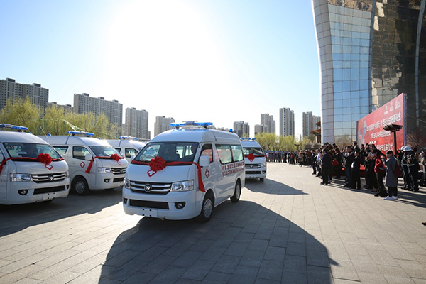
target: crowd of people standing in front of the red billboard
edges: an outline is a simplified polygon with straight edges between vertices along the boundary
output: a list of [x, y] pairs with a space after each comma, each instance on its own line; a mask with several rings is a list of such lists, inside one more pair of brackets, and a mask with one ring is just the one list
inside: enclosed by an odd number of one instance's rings
[[[417, 153], [417, 148], [403, 146], [397, 153], [383, 153], [373, 144], [339, 148], [325, 143], [315, 150], [305, 151], [267, 151], [268, 162], [312, 166], [312, 175], [322, 178], [322, 185], [328, 185], [333, 178], [344, 177], [344, 187], [371, 190], [377, 197], [385, 200], [398, 200], [398, 177], [404, 180], [404, 190], [419, 191], [420, 164], [425, 166], [426, 153]], [[420, 172], [422, 173], [422, 172]], [[361, 185], [361, 176], [365, 184]], [[386, 187], [387, 190], [386, 190]]]

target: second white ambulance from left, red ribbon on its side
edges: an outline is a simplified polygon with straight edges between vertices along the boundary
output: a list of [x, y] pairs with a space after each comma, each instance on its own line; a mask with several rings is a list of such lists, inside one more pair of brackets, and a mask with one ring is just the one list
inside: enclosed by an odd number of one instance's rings
[[77, 195], [89, 190], [114, 190], [123, 186], [129, 163], [107, 141], [93, 133], [67, 131], [69, 136], [40, 136], [55, 147], [70, 167], [71, 189]]

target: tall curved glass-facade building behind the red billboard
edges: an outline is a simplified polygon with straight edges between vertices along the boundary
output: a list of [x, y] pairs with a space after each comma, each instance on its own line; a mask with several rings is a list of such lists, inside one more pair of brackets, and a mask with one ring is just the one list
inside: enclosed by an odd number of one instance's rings
[[356, 121], [404, 92], [406, 140], [426, 143], [425, 2], [312, 0], [323, 142], [355, 141]]

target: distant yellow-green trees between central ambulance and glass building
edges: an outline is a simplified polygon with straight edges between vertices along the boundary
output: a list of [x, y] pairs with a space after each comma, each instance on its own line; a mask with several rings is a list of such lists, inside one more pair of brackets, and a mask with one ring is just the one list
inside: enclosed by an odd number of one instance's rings
[[319, 143], [315, 143], [315, 136], [313, 135], [305, 136], [301, 140], [294, 136], [278, 136], [274, 133], [258, 133], [256, 135], [256, 141], [266, 151], [296, 151], [320, 147]]

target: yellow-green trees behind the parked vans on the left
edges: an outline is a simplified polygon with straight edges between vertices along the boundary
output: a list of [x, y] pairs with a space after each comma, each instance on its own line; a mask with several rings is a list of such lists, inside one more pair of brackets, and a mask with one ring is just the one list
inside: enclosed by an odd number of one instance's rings
[[75, 114], [55, 105], [40, 109], [29, 99], [9, 100], [0, 111], [0, 124], [26, 126], [35, 135], [67, 135], [67, 131], [92, 132], [102, 139], [121, 135], [119, 126], [104, 114]]

